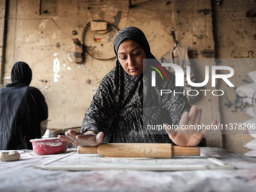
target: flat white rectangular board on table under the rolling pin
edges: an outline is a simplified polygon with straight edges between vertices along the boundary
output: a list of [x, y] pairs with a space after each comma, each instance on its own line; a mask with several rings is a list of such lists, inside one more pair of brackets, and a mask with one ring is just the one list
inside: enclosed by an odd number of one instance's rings
[[48, 170], [140, 170], [140, 171], [184, 171], [204, 169], [234, 169], [233, 166], [212, 157], [173, 157], [171, 159], [99, 157], [97, 154], [72, 152], [35, 166]]

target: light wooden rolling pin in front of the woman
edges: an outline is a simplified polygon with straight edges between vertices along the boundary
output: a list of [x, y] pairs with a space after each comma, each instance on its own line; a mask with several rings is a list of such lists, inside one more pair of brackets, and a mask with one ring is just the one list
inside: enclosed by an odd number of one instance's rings
[[154, 157], [198, 156], [199, 147], [180, 147], [170, 143], [107, 143], [96, 147], [78, 146], [78, 154], [99, 154], [102, 157]]

